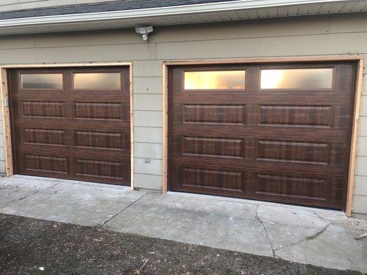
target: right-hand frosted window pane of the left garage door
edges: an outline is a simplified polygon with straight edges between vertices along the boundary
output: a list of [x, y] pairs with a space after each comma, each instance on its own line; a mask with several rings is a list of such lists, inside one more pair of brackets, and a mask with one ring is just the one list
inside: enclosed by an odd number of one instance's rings
[[78, 73], [74, 74], [74, 89], [120, 90], [120, 73]]

